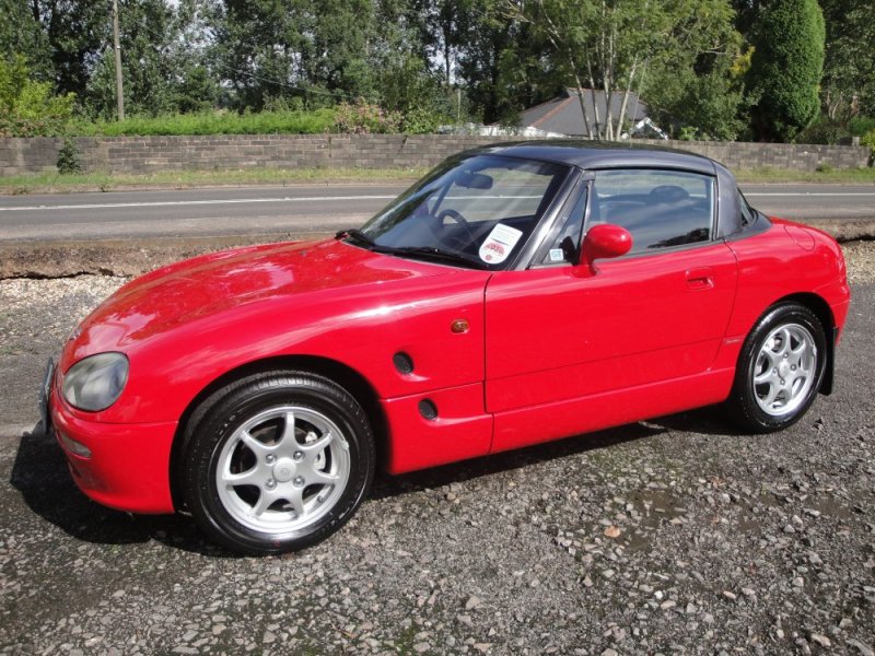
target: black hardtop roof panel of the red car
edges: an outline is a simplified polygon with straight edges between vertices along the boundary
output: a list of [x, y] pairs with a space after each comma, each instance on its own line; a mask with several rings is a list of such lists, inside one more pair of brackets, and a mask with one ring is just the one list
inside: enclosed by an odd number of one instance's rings
[[556, 162], [583, 169], [654, 166], [715, 175], [718, 167], [723, 168], [704, 155], [629, 141], [606, 142], [575, 139], [515, 141], [485, 145], [468, 151], [468, 153]]

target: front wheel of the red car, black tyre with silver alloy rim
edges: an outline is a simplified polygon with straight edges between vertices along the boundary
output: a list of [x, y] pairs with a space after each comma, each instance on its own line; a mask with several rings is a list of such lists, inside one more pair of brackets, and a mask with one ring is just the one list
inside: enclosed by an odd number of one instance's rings
[[240, 379], [191, 417], [177, 471], [188, 509], [212, 539], [284, 553], [338, 530], [368, 494], [374, 437], [361, 406], [303, 372]]

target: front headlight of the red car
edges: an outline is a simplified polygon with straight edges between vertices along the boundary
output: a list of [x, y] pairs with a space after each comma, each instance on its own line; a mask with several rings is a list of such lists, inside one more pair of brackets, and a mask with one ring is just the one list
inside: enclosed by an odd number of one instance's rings
[[121, 353], [98, 353], [77, 362], [63, 376], [67, 402], [96, 412], [118, 400], [128, 382], [128, 359]]

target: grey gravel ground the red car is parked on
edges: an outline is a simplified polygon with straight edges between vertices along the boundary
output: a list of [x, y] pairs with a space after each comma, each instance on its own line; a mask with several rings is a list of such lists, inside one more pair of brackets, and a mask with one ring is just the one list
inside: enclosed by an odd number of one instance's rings
[[837, 390], [792, 429], [702, 410], [385, 477], [262, 559], [75, 490], [33, 389], [122, 279], [2, 281], [0, 653], [873, 654], [875, 243], [845, 254]]

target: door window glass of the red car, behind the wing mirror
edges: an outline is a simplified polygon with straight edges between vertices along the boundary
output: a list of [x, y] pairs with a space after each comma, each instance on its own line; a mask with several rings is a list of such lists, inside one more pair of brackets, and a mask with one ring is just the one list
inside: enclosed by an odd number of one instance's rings
[[657, 169], [596, 173], [588, 225], [621, 225], [632, 235], [630, 253], [708, 242], [713, 219], [710, 176]]

